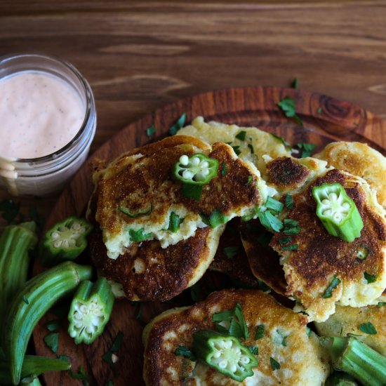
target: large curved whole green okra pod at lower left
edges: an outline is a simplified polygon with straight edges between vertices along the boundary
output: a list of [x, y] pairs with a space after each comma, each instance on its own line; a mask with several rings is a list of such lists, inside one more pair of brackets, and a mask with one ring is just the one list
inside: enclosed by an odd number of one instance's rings
[[1, 346], [10, 364], [11, 380], [18, 385], [29, 338], [39, 319], [55, 302], [72, 293], [93, 269], [62, 262], [25, 283], [15, 295], [1, 332]]

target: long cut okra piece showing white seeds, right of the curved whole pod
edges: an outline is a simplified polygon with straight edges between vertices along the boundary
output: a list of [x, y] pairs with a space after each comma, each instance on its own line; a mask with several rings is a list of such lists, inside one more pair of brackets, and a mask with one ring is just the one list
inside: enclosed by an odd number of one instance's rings
[[114, 294], [105, 277], [82, 281], [69, 309], [68, 333], [76, 345], [90, 345], [103, 332], [114, 305]]

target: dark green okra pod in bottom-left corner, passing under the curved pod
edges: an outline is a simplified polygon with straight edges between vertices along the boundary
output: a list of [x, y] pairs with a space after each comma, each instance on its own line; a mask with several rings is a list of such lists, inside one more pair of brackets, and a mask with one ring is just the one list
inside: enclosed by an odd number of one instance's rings
[[[22, 363], [20, 378], [38, 376], [47, 371], [66, 371], [71, 368], [69, 361], [48, 357], [26, 355]], [[0, 385], [12, 385], [9, 373], [9, 363], [5, 357], [0, 356]]]

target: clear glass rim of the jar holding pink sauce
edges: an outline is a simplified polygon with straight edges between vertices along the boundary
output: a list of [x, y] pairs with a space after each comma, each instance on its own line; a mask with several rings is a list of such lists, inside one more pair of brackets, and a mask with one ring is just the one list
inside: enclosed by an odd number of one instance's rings
[[[57, 159], [58, 157], [61, 157], [63, 154], [66, 154], [69, 149], [72, 149], [74, 144], [79, 141], [81, 136], [84, 134], [84, 131], [88, 128], [88, 121], [90, 120], [92, 110], [95, 110], [95, 100], [93, 97], [93, 92], [91, 90], [91, 86], [88, 84], [88, 81], [84, 78], [84, 76], [81, 75], [78, 69], [74, 65], [72, 65], [70, 62], [67, 62], [67, 60], [62, 60], [58, 58], [55, 55], [48, 55], [46, 53], [40, 53], [40, 52], [27, 52], [27, 53], [13, 53], [8, 55], [2, 55], [0, 56], [0, 69], [1, 67], [4, 67], [4, 65], [7, 65], [7, 63], [11, 60], [18, 60], [18, 59], [28, 59], [28, 58], [41, 58], [42, 60], [51, 60], [52, 62], [64, 66], [66, 69], [68, 69], [79, 81], [79, 84], [81, 84], [82, 91], [84, 91], [85, 99], [86, 99], [86, 107], [85, 107], [85, 114], [84, 114], [84, 121], [82, 122], [79, 131], [77, 131], [76, 135], [70, 140], [66, 145], [58, 149], [56, 152], [52, 152], [50, 154], [46, 154], [45, 156], [36, 157], [36, 158], [19, 158], [19, 157], [4, 157], [0, 155], [0, 160], [4, 160], [6, 162], [15, 162], [15, 163], [44, 163], [47, 161], [51, 161], [53, 159]], [[34, 68], [31, 69], [25, 69], [23, 71], [34, 71]], [[39, 69], [40, 72], [44, 72], [44, 69]], [[14, 72], [14, 74], [17, 74], [17, 71]], [[47, 71], [47, 73], [49, 73]], [[0, 78], [1, 80], [1, 78]]]

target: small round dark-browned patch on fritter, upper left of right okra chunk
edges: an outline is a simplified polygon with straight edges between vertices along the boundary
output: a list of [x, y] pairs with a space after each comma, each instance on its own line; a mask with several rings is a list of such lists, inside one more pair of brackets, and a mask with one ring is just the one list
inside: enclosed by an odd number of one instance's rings
[[270, 185], [295, 189], [305, 183], [310, 171], [291, 157], [280, 157], [267, 164], [267, 174]]

